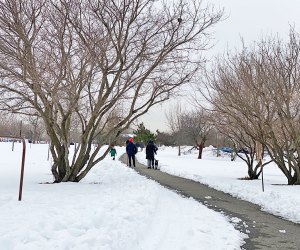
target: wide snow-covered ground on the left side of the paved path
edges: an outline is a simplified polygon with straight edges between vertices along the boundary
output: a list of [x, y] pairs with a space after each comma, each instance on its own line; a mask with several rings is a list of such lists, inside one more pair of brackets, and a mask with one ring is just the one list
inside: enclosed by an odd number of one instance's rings
[[[245, 235], [223, 215], [109, 157], [81, 183], [45, 184], [52, 181], [47, 145], [27, 144], [19, 202], [21, 148], [0, 143], [1, 250], [229, 250], [243, 243]], [[176, 156], [160, 150], [164, 171], [174, 165], [170, 157]], [[186, 160], [182, 167], [192, 167]]]

